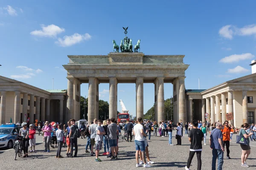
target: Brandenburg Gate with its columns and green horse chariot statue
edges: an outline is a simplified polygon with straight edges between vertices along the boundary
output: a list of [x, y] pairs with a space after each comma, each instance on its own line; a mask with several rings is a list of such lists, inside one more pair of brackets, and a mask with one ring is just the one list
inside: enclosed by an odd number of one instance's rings
[[[127, 30], [127, 28], [124, 28]], [[125, 31], [126, 31], [125, 30]], [[127, 31], [126, 31], [127, 34]], [[117, 115], [117, 84], [136, 83], [136, 116], [143, 118], [143, 84], [154, 83], [155, 120], [164, 120], [164, 83], [173, 84], [174, 121], [187, 121], [185, 107], [185, 71], [189, 65], [183, 63], [184, 55], [145, 55], [137, 52], [140, 40], [130, 48], [126, 37], [119, 51], [108, 55], [70, 55], [67, 70], [67, 113], [69, 119], [80, 119], [80, 85], [88, 83], [88, 122], [99, 119], [99, 83], [109, 83], [109, 118]], [[122, 46], [123, 45], [123, 46]], [[129, 45], [129, 46], [128, 46]], [[130, 50], [129, 50], [130, 49]], [[169, 89], [166, 89], [167, 91]], [[151, 93], [151, 91], [147, 91]]]

